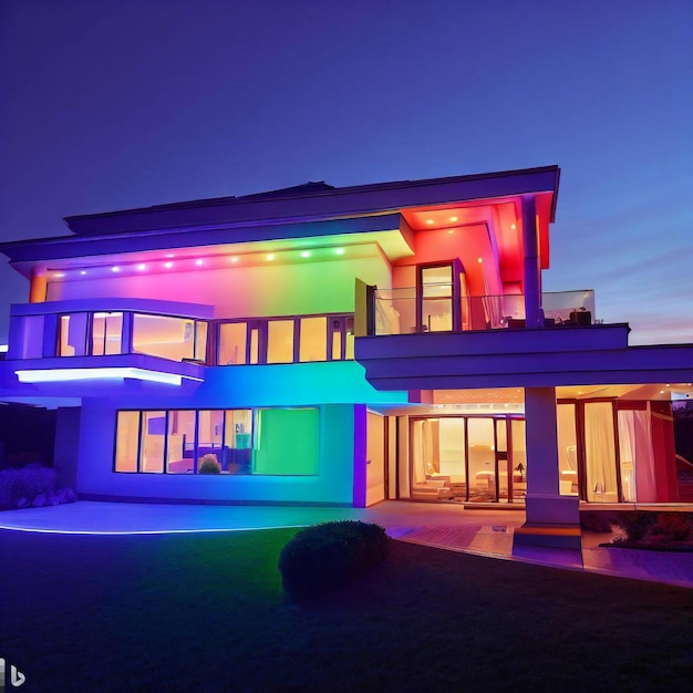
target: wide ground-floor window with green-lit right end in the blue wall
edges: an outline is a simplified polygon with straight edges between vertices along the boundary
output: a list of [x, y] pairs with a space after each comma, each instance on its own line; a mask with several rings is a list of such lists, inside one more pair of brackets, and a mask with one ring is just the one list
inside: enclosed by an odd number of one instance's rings
[[225, 476], [306, 476], [318, 474], [318, 454], [316, 407], [118, 412], [116, 416], [116, 472], [198, 474], [201, 458], [211, 455]]

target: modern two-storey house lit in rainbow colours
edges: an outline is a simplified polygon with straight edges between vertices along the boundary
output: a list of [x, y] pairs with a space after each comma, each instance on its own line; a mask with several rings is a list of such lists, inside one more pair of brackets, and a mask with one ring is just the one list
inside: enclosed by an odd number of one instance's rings
[[60, 407], [82, 498], [516, 504], [529, 534], [676, 501], [693, 345], [629, 346], [592, 291], [542, 292], [559, 175], [69, 217], [0, 247], [31, 281], [0, 400]]

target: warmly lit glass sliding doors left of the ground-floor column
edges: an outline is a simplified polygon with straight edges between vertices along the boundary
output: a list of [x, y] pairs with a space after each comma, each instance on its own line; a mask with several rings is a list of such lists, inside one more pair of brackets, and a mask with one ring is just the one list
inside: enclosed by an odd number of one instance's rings
[[515, 503], [527, 490], [521, 417], [412, 417], [410, 458], [413, 499]]

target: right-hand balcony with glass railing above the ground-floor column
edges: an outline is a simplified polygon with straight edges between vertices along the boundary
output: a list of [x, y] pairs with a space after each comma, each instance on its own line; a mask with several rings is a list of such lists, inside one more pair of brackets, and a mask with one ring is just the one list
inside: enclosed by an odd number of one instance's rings
[[618, 372], [642, 369], [628, 324], [594, 319], [592, 291], [542, 294], [544, 327], [526, 327], [524, 296], [425, 289], [356, 287], [355, 359], [376, 390], [631, 382]]

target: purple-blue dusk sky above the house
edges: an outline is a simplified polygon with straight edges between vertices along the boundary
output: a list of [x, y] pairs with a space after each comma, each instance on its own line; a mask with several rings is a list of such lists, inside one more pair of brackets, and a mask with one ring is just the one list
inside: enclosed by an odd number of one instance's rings
[[[545, 290], [593, 288], [632, 344], [693, 342], [691, 0], [0, 0], [0, 240], [547, 164]], [[0, 343], [27, 297], [0, 266]]]

